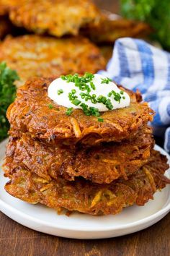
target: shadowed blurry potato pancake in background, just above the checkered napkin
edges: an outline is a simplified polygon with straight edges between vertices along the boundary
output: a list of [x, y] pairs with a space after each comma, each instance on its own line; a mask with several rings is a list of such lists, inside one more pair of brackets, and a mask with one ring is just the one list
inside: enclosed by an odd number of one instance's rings
[[112, 14], [103, 14], [97, 25], [89, 25], [81, 33], [95, 43], [113, 43], [124, 37], [144, 38], [151, 33], [151, 27], [144, 22], [125, 20], [121, 17], [112, 19]]

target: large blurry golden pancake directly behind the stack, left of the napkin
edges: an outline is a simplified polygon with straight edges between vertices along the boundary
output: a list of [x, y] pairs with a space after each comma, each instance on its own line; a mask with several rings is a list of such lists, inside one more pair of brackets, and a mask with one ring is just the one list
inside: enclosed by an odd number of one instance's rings
[[17, 70], [18, 86], [29, 77], [95, 73], [106, 64], [99, 48], [86, 38], [57, 39], [39, 35], [6, 38], [0, 43], [0, 61]]

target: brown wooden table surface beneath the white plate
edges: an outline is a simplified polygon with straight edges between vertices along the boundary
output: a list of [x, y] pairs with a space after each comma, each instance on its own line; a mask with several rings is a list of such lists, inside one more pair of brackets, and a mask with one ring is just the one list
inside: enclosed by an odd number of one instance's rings
[[[119, 3], [97, 0], [100, 7], [117, 12]], [[169, 256], [170, 213], [151, 228], [128, 236], [102, 240], [76, 240], [41, 234], [0, 213], [0, 256]]]

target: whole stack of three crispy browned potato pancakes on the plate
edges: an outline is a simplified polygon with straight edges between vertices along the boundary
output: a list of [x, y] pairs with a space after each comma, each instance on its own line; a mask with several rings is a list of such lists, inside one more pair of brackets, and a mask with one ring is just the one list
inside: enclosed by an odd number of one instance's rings
[[144, 205], [170, 183], [166, 156], [153, 150], [147, 125], [153, 111], [140, 93], [120, 87], [130, 106], [102, 112], [100, 122], [81, 109], [66, 115], [66, 107], [48, 98], [52, 81], [28, 80], [9, 106], [6, 192], [59, 213], [107, 215]]

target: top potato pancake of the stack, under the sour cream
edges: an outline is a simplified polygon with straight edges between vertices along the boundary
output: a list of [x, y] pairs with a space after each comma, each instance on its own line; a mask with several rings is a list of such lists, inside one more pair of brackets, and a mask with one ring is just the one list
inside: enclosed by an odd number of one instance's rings
[[86, 116], [81, 109], [74, 109], [68, 116], [66, 107], [48, 98], [48, 86], [52, 81], [53, 78], [35, 78], [19, 88], [16, 100], [7, 111], [10, 135], [20, 137], [21, 132], [30, 132], [32, 137], [52, 145], [58, 145], [58, 142], [71, 146], [77, 142], [97, 145], [134, 137], [153, 119], [148, 103], [137, 102], [136, 97], [140, 96], [130, 90], [127, 91], [130, 106], [101, 112], [103, 122], [99, 122], [96, 116]]

